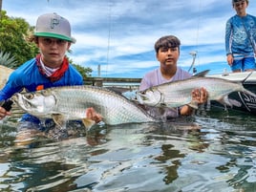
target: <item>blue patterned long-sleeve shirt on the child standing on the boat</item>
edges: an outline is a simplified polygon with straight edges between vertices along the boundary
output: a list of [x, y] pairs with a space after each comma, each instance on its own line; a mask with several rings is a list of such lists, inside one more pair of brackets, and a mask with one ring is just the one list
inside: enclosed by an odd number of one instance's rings
[[[246, 30], [245, 30], [246, 28]], [[234, 15], [225, 26], [225, 52], [233, 56], [253, 57], [256, 41], [256, 17]], [[252, 46], [253, 45], [253, 46]], [[255, 51], [256, 52], [256, 51]]]

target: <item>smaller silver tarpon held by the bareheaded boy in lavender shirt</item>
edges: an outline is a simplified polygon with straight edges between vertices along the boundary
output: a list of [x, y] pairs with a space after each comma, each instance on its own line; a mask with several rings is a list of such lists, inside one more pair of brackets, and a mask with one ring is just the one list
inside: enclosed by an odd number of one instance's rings
[[140, 104], [149, 106], [175, 108], [188, 104], [197, 109], [197, 103], [192, 101], [191, 92], [202, 87], [207, 91], [208, 100], [216, 100], [230, 107], [241, 104], [239, 101], [228, 99], [228, 95], [232, 92], [243, 92], [256, 97], [239, 82], [217, 77], [192, 76], [139, 91], [137, 92], [137, 99]]

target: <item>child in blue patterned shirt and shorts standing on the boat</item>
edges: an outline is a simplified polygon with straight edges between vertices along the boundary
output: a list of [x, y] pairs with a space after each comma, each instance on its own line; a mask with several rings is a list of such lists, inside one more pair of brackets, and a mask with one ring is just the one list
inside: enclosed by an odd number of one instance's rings
[[226, 60], [232, 72], [254, 71], [256, 17], [246, 13], [248, 0], [232, 0], [236, 15], [225, 26]]

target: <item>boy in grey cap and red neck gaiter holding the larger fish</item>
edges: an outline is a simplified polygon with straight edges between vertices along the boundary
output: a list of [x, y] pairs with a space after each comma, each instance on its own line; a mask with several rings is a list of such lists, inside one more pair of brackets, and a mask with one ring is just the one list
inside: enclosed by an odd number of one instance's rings
[[[46, 13], [37, 19], [32, 41], [39, 48], [34, 58], [25, 62], [11, 75], [0, 91], [0, 101], [8, 100], [24, 88], [34, 92], [50, 87], [82, 85], [83, 77], [76, 71], [66, 57], [75, 38], [71, 36], [71, 26], [67, 19], [56, 14]], [[87, 116], [96, 122], [101, 116], [93, 108], [87, 110]], [[11, 116], [11, 112], [0, 107], [0, 119]], [[37, 117], [25, 114], [21, 121], [40, 124]]]

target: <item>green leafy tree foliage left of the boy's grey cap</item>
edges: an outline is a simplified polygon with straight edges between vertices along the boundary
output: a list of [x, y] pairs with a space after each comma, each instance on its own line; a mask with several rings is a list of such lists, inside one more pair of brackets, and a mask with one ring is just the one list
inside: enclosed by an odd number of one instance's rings
[[10, 53], [17, 61], [15, 65], [8, 67], [15, 69], [38, 53], [35, 44], [26, 40], [31, 32], [32, 27], [23, 18], [12, 18], [6, 11], [1, 11], [0, 50]]

